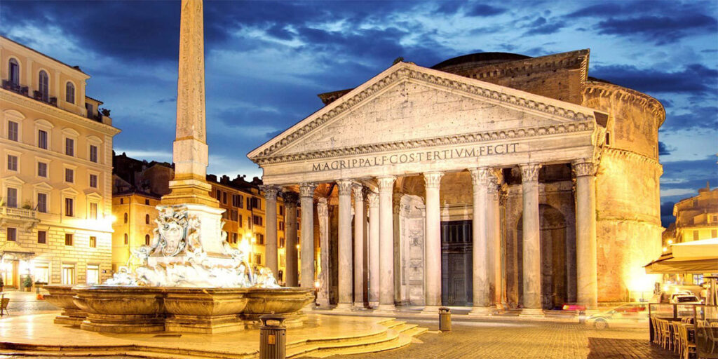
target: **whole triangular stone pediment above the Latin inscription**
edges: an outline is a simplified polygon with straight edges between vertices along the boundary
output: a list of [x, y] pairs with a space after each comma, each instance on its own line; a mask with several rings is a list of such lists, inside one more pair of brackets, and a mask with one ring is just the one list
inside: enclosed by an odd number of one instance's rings
[[[595, 123], [595, 110], [400, 62], [258, 147], [248, 157], [539, 131]], [[554, 128], [554, 130], [550, 130]], [[548, 130], [546, 130], [548, 129]]]

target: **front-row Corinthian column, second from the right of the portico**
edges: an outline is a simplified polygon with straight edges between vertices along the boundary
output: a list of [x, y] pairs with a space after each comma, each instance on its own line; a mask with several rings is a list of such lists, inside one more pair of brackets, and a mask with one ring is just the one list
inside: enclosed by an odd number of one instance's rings
[[521, 165], [523, 187], [523, 310], [524, 316], [543, 316], [541, 310], [541, 227], [538, 222], [538, 169]]

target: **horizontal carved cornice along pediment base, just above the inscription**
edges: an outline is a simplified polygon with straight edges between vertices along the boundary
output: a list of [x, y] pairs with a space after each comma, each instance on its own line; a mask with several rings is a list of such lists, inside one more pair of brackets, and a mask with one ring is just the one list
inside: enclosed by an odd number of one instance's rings
[[309, 151], [286, 155], [280, 154], [277, 156], [256, 157], [253, 159], [253, 161], [256, 162], [256, 164], [263, 165], [279, 162], [293, 162], [310, 159], [324, 159], [330, 157], [373, 154], [382, 151], [401, 151], [417, 148], [430, 148], [434, 146], [472, 144], [503, 139], [526, 139], [536, 136], [549, 136], [556, 134], [571, 134], [575, 132], [593, 131], [595, 129], [595, 125], [596, 123], [594, 121], [582, 121], [572, 123], [560, 123], [551, 126], [536, 126], [521, 129], [502, 129], [497, 131], [472, 132], [468, 134], [431, 137], [426, 139], [414, 139], [410, 141], [396, 141], [379, 144], [368, 144], [363, 146], [343, 147], [339, 149], [329, 149], [324, 151]]

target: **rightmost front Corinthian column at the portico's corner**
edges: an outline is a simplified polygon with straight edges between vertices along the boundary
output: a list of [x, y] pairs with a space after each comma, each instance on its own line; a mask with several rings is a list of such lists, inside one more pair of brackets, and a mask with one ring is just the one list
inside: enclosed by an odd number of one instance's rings
[[576, 171], [577, 299], [589, 309], [598, 305], [596, 259], [596, 172], [589, 159], [573, 163]]

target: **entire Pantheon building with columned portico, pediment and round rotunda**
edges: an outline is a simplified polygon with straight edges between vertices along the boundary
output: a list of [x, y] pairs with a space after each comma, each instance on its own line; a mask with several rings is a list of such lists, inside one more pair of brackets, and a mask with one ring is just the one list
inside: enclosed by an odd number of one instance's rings
[[588, 63], [589, 50], [397, 61], [320, 94], [325, 107], [248, 154], [268, 218], [283, 193], [313, 239], [287, 235], [286, 275], [337, 309], [542, 315], [650, 292], [665, 111]]

